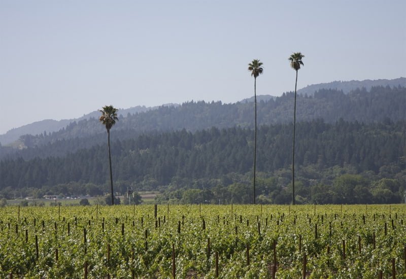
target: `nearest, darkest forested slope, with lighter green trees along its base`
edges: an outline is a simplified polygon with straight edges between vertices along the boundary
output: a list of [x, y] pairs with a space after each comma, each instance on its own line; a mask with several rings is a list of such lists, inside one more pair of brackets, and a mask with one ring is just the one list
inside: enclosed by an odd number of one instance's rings
[[[399, 202], [405, 190], [405, 132], [404, 120], [298, 123], [298, 201]], [[106, 140], [105, 134], [100, 136]], [[291, 138], [291, 124], [262, 125], [258, 130], [260, 202], [290, 202]], [[237, 127], [116, 137], [112, 141], [116, 190], [123, 192], [127, 186], [160, 190], [165, 202], [249, 202], [252, 141], [251, 129]], [[32, 152], [41, 154], [52, 146]], [[1, 194], [6, 197], [14, 191], [34, 196], [100, 194], [108, 179], [107, 147], [95, 145], [63, 157], [4, 159], [0, 171]]]

